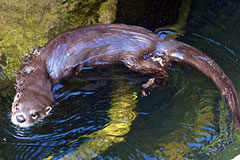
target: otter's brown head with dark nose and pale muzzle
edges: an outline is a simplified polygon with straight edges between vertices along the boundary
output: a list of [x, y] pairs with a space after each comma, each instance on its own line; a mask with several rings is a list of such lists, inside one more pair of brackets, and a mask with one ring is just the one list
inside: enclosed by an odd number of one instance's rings
[[49, 98], [29, 92], [19, 92], [12, 104], [11, 121], [20, 127], [29, 127], [46, 117], [52, 110]]

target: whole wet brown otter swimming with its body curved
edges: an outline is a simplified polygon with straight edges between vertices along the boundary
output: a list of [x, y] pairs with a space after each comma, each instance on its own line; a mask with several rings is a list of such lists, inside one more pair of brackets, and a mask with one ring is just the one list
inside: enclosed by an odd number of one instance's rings
[[161, 38], [151, 31], [124, 24], [98, 24], [66, 31], [27, 56], [16, 76], [17, 93], [11, 120], [20, 127], [44, 118], [54, 102], [52, 87], [85, 67], [121, 64], [152, 77], [142, 94], [168, 77], [173, 62], [190, 64], [213, 80], [226, 96], [235, 127], [240, 127], [239, 101], [231, 80], [207, 55], [190, 45]]

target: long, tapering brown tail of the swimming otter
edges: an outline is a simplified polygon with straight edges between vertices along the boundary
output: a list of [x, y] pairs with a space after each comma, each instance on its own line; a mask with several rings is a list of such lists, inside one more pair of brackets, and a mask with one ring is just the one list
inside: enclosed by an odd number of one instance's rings
[[162, 39], [158, 43], [157, 50], [164, 55], [163, 59], [187, 63], [207, 75], [220, 89], [221, 94], [226, 96], [235, 127], [240, 128], [239, 101], [236, 89], [216, 62], [196, 48], [175, 40]]

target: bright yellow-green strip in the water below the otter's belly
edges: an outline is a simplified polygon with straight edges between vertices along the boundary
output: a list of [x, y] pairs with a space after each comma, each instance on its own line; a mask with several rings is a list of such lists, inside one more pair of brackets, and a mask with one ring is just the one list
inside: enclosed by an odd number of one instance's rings
[[[136, 98], [136, 93], [131, 91], [131, 87], [127, 83], [114, 81], [111, 108], [107, 112], [110, 118], [109, 123], [102, 130], [69, 142], [68, 145], [72, 146], [81, 138], [89, 139], [74, 152], [65, 155], [63, 159], [92, 159], [104, 153], [114, 143], [124, 141], [124, 135], [130, 131], [130, 126], [136, 118], [136, 112], [133, 111], [136, 107]], [[50, 156], [46, 159], [51, 158], [53, 157]]]

